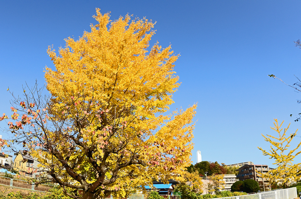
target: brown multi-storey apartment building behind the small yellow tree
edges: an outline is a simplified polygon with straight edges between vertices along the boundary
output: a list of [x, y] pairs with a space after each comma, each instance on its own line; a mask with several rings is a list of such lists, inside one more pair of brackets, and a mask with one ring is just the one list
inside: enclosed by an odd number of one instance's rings
[[268, 167], [268, 165], [256, 165], [256, 164], [247, 164], [244, 166], [241, 166], [238, 169], [238, 175], [236, 176], [240, 181], [246, 180], [246, 179], [253, 179], [256, 180], [257, 182], [267, 182], [267, 180], [264, 178], [262, 179], [261, 177], [258, 176], [256, 171], [260, 171], [263, 173], [267, 173], [268, 171], [272, 170], [271, 168]]

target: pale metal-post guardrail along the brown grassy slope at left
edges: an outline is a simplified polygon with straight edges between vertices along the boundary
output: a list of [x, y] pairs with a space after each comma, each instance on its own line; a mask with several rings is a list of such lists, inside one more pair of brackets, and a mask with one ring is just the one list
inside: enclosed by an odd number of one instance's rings
[[39, 192], [49, 191], [49, 189], [53, 187], [53, 185], [47, 185], [47, 184], [39, 184], [36, 186], [35, 184], [28, 183], [28, 181], [25, 180], [8, 178], [4, 176], [0, 176], [0, 185], [9, 186], [12, 188], [26, 189], [30, 191], [39, 191]]

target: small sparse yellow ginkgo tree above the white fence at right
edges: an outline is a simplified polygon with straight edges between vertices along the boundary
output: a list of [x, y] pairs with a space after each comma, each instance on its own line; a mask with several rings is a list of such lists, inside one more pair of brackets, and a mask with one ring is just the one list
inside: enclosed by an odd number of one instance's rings
[[284, 121], [282, 121], [279, 125], [278, 120], [274, 120], [274, 127], [271, 128], [275, 130], [278, 133], [278, 135], [264, 136], [262, 134], [262, 136], [265, 138], [265, 141], [270, 142], [272, 144], [271, 149], [269, 151], [266, 151], [261, 147], [258, 148], [262, 151], [263, 155], [268, 155], [270, 156], [269, 159], [275, 160], [275, 163], [273, 164], [277, 165], [277, 168], [268, 172], [256, 172], [260, 177], [267, 179], [270, 184], [278, 184], [282, 185], [283, 188], [287, 188], [292, 182], [300, 180], [299, 174], [301, 173], [301, 163], [293, 164], [293, 161], [294, 158], [301, 153], [301, 151], [298, 150], [298, 148], [301, 145], [301, 142], [296, 146], [295, 149], [287, 152], [287, 150], [290, 147], [290, 142], [297, 135], [298, 129], [295, 131], [295, 133], [290, 133], [289, 136], [286, 136], [290, 124], [287, 126], [287, 128], [284, 128], [283, 133], [281, 133], [281, 131], [283, 130], [281, 126]]

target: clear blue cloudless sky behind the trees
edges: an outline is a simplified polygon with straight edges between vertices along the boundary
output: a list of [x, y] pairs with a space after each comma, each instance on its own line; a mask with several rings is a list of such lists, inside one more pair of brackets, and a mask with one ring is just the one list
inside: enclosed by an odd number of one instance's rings
[[201, 150], [207, 161], [272, 167], [257, 149], [269, 147], [261, 133], [274, 133], [273, 118], [291, 122], [290, 132], [301, 125], [290, 117], [301, 112], [300, 93], [268, 77], [288, 84], [301, 77], [301, 51], [293, 43], [301, 39], [300, 1], [2, 1], [1, 113], [10, 112], [7, 87], [22, 94], [25, 81], [43, 85], [44, 67], [54, 68], [48, 45], [64, 47], [64, 38], [89, 31], [96, 7], [111, 11], [111, 19], [129, 13], [157, 21], [151, 44], [171, 43], [181, 54], [175, 71], [182, 84], [171, 110], [198, 102], [194, 163]]

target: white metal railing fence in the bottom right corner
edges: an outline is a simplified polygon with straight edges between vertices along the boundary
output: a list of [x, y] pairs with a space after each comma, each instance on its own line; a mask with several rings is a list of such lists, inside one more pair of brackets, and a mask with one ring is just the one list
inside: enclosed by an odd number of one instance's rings
[[[294, 199], [297, 197], [297, 188], [278, 189], [275, 191], [264, 191], [257, 194], [242, 196], [222, 197], [226, 199]], [[222, 199], [220, 198], [220, 199]]]

